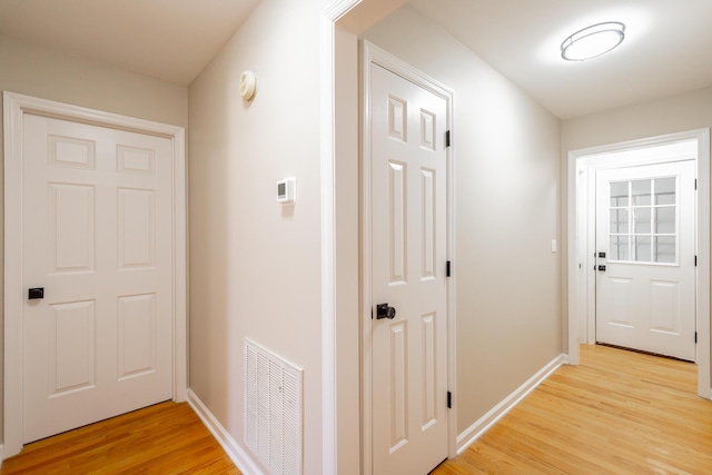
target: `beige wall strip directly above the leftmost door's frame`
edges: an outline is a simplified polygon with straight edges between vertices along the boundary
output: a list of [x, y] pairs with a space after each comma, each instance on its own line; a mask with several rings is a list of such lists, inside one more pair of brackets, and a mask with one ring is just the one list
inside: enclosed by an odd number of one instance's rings
[[[188, 89], [0, 34], [0, 90], [185, 127]], [[2, 99], [0, 98], [0, 101]], [[2, 117], [0, 117], [0, 125]], [[0, 133], [0, 158], [3, 156]], [[4, 210], [0, 167], [0, 216]], [[0, 218], [0, 221], [2, 219]], [[0, 231], [0, 267], [4, 230]], [[0, 287], [0, 303], [3, 288]], [[0, 306], [2, 313], [2, 306]], [[0, 346], [3, 326], [0, 325]], [[0, 350], [0, 372], [2, 372]], [[0, 377], [0, 385], [2, 384]], [[2, 400], [0, 399], [0, 407]], [[0, 410], [0, 432], [2, 431]]]

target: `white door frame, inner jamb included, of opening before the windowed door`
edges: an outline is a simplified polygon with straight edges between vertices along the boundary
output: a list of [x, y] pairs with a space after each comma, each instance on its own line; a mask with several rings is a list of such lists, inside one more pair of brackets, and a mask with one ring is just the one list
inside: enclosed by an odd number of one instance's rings
[[[704, 398], [712, 398], [710, 375], [710, 129], [691, 130], [680, 133], [651, 137], [621, 144], [592, 147], [568, 152], [567, 176], [567, 235], [568, 235], [568, 362], [578, 364], [578, 343], [581, 335], [591, 338], [592, 281], [587, 278], [593, 266], [592, 232], [589, 225], [591, 204], [581, 196], [583, 187], [580, 176], [585, 176], [589, 169], [607, 167], [615, 164], [594, 165], [590, 157], [622, 150], [635, 150], [656, 145], [664, 145], [682, 140], [698, 141], [696, 159], [696, 216], [695, 216], [695, 268], [696, 283], [696, 328], [698, 328], [698, 394]], [[587, 161], [589, 160], [589, 161]], [[664, 161], [661, 158], [657, 161]], [[670, 161], [670, 160], [668, 160]], [[626, 164], [627, 165], [627, 164]], [[590, 182], [590, 180], [589, 180]], [[584, 328], [585, 330], [582, 331]]]

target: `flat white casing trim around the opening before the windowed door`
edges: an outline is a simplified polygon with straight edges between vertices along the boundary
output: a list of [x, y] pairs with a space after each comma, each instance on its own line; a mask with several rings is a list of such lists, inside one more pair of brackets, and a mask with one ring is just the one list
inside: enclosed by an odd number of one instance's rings
[[[610, 154], [620, 150], [633, 150], [682, 140], [698, 140], [696, 178], [698, 178], [698, 215], [696, 215], [696, 318], [698, 318], [698, 394], [712, 398], [710, 375], [710, 129], [698, 129], [679, 133], [611, 144], [571, 150], [567, 155], [567, 231], [568, 231], [568, 357], [571, 364], [578, 364], [577, 327], [583, 316], [577, 315], [577, 303], [585, 299], [576, 290], [577, 279], [584, 278], [577, 268], [577, 246], [582, 240], [576, 226], [578, 204], [576, 200], [577, 160], [593, 155]], [[590, 266], [584, 263], [585, 269]], [[584, 270], [585, 270], [584, 269]]]

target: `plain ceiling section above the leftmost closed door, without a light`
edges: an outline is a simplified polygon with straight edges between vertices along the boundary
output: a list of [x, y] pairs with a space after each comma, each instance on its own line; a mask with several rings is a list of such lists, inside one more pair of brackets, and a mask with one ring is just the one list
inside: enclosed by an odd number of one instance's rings
[[0, 32], [189, 85], [259, 0], [0, 0]]

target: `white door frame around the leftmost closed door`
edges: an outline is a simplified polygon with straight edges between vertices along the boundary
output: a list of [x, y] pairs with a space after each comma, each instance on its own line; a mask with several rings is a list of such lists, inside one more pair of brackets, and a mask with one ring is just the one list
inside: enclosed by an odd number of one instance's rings
[[4, 446], [2, 458], [22, 449], [22, 135], [26, 113], [160, 136], [172, 142], [174, 400], [186, 400], [186, 166], [185, 130], [116, 113], [70, 106], [12, 92], [4, 101]]

